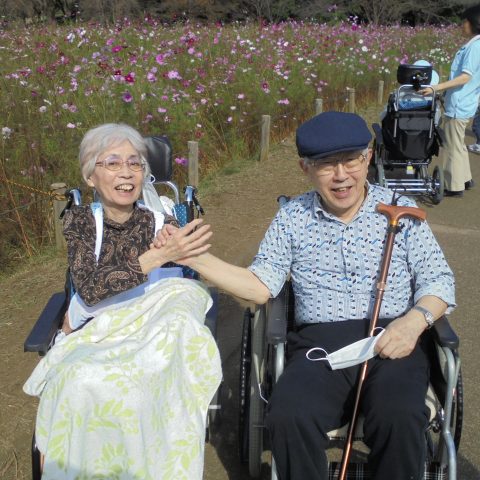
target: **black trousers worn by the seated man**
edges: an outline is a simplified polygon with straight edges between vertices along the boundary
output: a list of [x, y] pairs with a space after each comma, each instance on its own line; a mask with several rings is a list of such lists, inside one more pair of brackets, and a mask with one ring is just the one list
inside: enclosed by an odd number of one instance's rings
[[[388, 321], [379, 321], [385, 325]], [[327, 432], [350, 421], [361, 365], [332, 371], [305, 357], [367, 336], [368, 321], [319, 323], [290, 333], [288, 362], [268, 404], [266, 424], [280, 480], [327, 480]], [[374, 480], [419, 480], [426, 454], [429, 361], [419, 343], [402, 359], [369, 361], [360, 408]]]

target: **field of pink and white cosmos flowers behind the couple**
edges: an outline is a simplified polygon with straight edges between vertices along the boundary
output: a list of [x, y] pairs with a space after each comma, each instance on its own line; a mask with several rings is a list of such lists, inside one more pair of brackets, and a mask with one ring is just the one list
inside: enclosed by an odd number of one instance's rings
[[[455, 26], [354, 21], [166, 26], [146, 18], [0, 30], [0, 177], [42, 191], [56, 181], [80, 185], [85, 131], [126, 122], [170, 137], [179, 183], [187, 141], [198, 141], [202, 178], [254, 155], [262, 114], [272, 116], [275, 140], [313, 114], [316, 98], [344, 109], [353, 87], [357, 106], [367, 107], [379, 80], [395, 87], [399, 63], [426, 59], [445, 78], [461, 43]], [[51, 242], [48, 197], [3, 187], [0, 228], [10, 244], [22, 244], [19, 222], [35, 246]]]

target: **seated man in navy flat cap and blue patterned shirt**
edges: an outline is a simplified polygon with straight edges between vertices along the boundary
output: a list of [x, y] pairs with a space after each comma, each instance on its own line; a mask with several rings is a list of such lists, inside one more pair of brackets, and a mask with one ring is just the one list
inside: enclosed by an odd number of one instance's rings
[[[313, 190], [279, 210], [252, 265], [204, 254], [186, 260], [200, 274], [258, 304], [291, 275], [296, 331], [268, 404], [267, 427], [281, 480], [327, 478], [327, 432], [351, 416], [359, 365], [332, 370], [313, 347], [336, 351], [368, 335], [392, 191], [367, 182], [370, 132], [355, 114], [326, 112], [297, 130], [300, 168]], [[414, 205], [401, 198], [401, 205]], [[423, 478], [429, 362], [422, 332], [454, 306], [454, 281], [424, 222], [401, 221], [361, 410], [376, 480]], [[170, 227], [167, 227], [170, 228]]]

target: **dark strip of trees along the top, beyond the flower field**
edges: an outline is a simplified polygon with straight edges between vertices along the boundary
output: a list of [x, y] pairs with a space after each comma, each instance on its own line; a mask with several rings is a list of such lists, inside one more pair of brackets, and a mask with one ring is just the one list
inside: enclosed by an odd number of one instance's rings
[[312, 19], [336, 22], [351, 17], [373, 24], [441, 23], [452, 21], [473, 0], [3, 0], [4, 21], [115, 22], [126, 16], [151, 15], [163, 21], [185, 19], [236, 21]]

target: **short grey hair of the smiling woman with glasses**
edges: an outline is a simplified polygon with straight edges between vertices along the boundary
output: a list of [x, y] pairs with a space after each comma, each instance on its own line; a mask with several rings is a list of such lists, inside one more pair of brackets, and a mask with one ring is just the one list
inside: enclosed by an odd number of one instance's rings
[[98, 157], [111, 147], [128, 140], [138, 155], [145, 162], [144, 178], [150, 177], [150, 166], [147, 162], [147, 145], [137, 130], [125, 123], [104, 123], [90, 129], [80, 143], [78, 158], [82, 177], [87, 181], [95, 170]]

